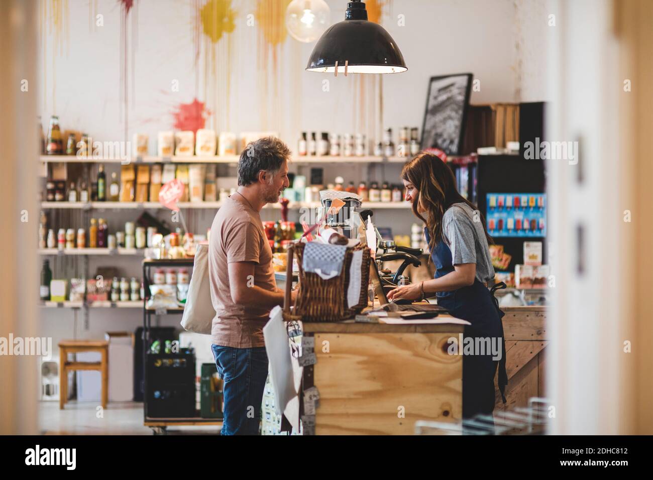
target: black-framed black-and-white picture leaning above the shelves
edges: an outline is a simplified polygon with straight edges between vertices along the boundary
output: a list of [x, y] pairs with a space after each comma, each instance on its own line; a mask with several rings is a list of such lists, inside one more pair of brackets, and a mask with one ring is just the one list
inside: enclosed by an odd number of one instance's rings
[[431, 77], [422, 123], [422, 150], [439, 148], [447, 155], [460, 155], [471, 77], [471, 73]]

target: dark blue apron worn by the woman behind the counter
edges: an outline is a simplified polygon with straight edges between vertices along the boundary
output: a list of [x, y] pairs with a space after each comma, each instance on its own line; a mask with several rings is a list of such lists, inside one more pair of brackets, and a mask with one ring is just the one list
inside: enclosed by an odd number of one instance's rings
[[[426, 242], [430, 241], [424, 229]], [[440, 241], [436, 244], [431, 258], [436, 266], [435, 278], [454, 271], [451, 249]], [[499, 369], [499, 389], [505, 404], [505, 385], [508, 376], [505, 371], [505, 338], [503, 337], [503, 313], [498, 309], [490, 291], [478, 279], [473, 285], [451, 292], [438, 292], [438, 305], [443, 306], [456, 318], [471, 323], [465, 327], [464, 338], [490, 338], [490, 345], [500, 342], [501, 359], [492, 360], [488, 355], [463, 355], [462, 357], [462, 416], [465, 419], [477, 413], [492, 415], [494, 410], [494, 375]], [[492, 343], [494, 339], [494, 343]], [[476, 342], [475, 342], [476, 344]], [[464, 345], [458, 345], [462, 349]], [[478, 352], [475, 352], [478, 353]]]

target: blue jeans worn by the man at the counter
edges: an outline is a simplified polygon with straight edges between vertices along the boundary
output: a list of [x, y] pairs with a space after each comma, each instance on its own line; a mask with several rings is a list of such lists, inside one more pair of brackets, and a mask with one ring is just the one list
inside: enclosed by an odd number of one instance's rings
[[265, 347], [233, 348], [211, 345], [223, 380], [222, 435], [257, 435], [263, 389], [268, 377]]

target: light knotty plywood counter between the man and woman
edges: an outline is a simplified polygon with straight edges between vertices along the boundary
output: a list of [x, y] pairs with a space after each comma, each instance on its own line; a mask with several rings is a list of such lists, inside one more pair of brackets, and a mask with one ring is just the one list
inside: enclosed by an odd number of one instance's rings
[[[462, 418], [462, 357], [447, 340], [464, 325], [304, 323], [316, 363], [304, 368], [315, 385], [315, 434], [407, 434], [418, 420]], [[382, 319], [381, 319], [382, 321]], [[457, 319], [456, 319], [457, 321]]]

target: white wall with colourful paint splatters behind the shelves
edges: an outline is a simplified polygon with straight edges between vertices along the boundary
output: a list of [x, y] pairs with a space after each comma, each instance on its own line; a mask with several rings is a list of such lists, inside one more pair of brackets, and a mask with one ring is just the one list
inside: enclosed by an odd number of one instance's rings
[[[92, 2], [91, 2], [92, 4]], [[296, 146], [300, 131], [354, 132], [374, 125], [363, 125], [355, 118], [353, 96], [360, 81], [352, 76], [325, 76], [304, 72], [313, 44], [298, 44], [288, 37], [280, 51], [278, 95], [273, 88], [273, 78], [257, 67], [257, 28], [247, 27], [247, 14], [253, 12], [253, 1], [234, 1], [238, 10], [236, 29], [232, 37], [232, 70], [229, 116], [224, 119], [223, 106], [219, 106], [216, 129], [257, 131], [274, 129], [291, 148]], [[346, 2], [330, 0], [332, 22], [343, 20]], [[102, 14], [103, 27], [89, 27], [89, 2], [69, 1], [68, 45], [52, 62], [56, 38], [46, 35], [46, 61], [40, 62], [44, 84], [39, 103], [44, 128], [51, 114], [58, 114], [63, 129], [87, 131], [97, 140], [122, 140], [123, 116], [120, 104], [120, 18], [121, 10], [114, 0], [97, 1], [97, 11]], [[131, 28], [137, 13], [137, 34], [131, 40], [134, 47], [133, 68], [129, 65], [129, 131], [150, 135], [150, 152], [155, 152], [157, 131], [172, 129], [171, 110], [178, 103], [189, 103], [194, 97], [203, 100], [204, 54], [200, 54], [197, 69], [194, 66], [193, 21], [191, 3], [173, 0], [139, 0], [129, 16]], [[534, 5], [539, 5], [535, 3]], [[481, 80], [481, 91], [473, 92], [472, 103], [515, 101], [517, 80], [515, 65], [517, 38], [529, 43], [533, 35], [540, 35], [539, 16], [529, 16], [528, 29], [519, 32], [516, 22], [524, 16], [521, 5], [519, 16], [512, 0], [394, 0], [392, 11], [384, 18], [384, 25], [398, 43], [408, 71], [383, 77], [383, 127], [422, 125], [426, 88], [430, 76], [473, 72]], [[397, 24], [403, 14], [406, 26]], [[543, 20], [544, 22], [545, 20]], [[525, 40], [524, 40], [525, 39]], [[226, 45], [226, 44], [225, 44]], [[217, 48], [217, 57], [224, 57], [225, 46]], [[537, 72], [538, 48], [523, 50], [528, 53], [525, 69]], [[522, 55], [522, 54], [520, 54]], [[542, 59], [543, 61], [543, 59]], [[225, 63], [221, 63], [225, 65]], [[536, 78], [532, 76], [522, 76]], [[324, 92], [322, 80], [330, 80], [330, 91]], [[180, 91], [172, 92], [172, 80], [179, 80]], [[222, 80], [210, 80], [224, 85]], [[196, 87], [197, 82], [197, 87]], [[368, 82], [370, 83], [370, 82]], [[533, 86], [530, 86], [533, 85]], [[543, 82], [531, 82], [521, 88], [523, 100], [541, 100], [545, 97]], [[209, 91], [211, 89], [209, 88]], [[53, 95], [54, 92], [54, 95]], [[218, 97], [225, 97], [219, 93]], [[270, 100], [272, 97], [272, 100]], [[270, 101], [268, 115], [261, 108], [262, 99]], [[368, 99], [374, 103], [374, 97]], [[276, 104], [275, 104], [276, 102]], [[280, 108], [279, 108], [280, 106]], [[276, 110], [272, 110], [276, 108]], [[294, 169], [298, 168], [296, 166]], [[308, 169], [301, 170], [308, 174]], [[398, 182], [400, 166], [326, 168], [327, 181], [336, 174], [349, 180], [384, 180]], [[234, 175], [234, 172], [224, 174]], [[196, 232], [206, 230], [214, 212], [194, 212]], [[163, 215], [163, 212], [161, 213]], [[264, 219], [274, 219], [276, 212], [264, 212]], [[133, 214], [104, 214], [109, 219], [111, 231], [123, 229]], [[408, 233], [413, 218], [408, 210], [386, 210], [375, 214], [381, 226], [392, 225], [394, 233]], [[81, 218], [78, 221], [82, 221]], [[81, 226], [81, 225], [76, 225]], [[88, 225], [84, 225], [88, 227]], [[190, 226], [190, 225], [189, 225]], [[91, 259], [94, 266], [103, 263]], [[138, 262], [119, 259], [116, 264], [124, 269], [125, 276], [139, 276]], [[57, 273], [57, 272], [55, 272]], [[133, 330], [142, 322], [140, 311], [91, 311], [90, 329], [76, 334], [98, 337], [106, 330]], [[170, 317], [166, 323], [179, 321]], [[44, 328], [59, 338], [73, 335], [72, 313], [67, 310], [48, 310], [44, 315]]]

